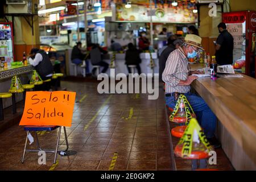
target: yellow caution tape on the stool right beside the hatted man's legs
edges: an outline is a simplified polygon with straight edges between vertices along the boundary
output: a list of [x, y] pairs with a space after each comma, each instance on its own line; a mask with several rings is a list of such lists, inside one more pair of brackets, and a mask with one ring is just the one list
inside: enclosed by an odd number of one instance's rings
[[174, 110], [172, 111], [172, 114], [169, 117], [169, 120], [174, 122], [174, 117], [175, 117], [177, 111], [179, 110], [179, 105], [180, 105], [181, 100], [183, 100], [184, 107], [185, 107], [185, 113], [186, 113], [186, 122], [185, 122], [185, 124], [188, 125], [189, 119], [193, 118], [192, 114], [195, 115], [195, 112], [193, 111], [191, 105], [189, 104], [189, 102], [187, 100], [187, 97], [184, 96], [184, 94], [180, 94], [180, 96], [179, 96], [179, 98], [176, 102], [176, 105], [174, 107]]

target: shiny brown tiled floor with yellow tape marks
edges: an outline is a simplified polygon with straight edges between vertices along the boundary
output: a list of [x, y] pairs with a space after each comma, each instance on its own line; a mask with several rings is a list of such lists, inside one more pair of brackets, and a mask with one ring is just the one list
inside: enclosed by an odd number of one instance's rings
[[[158, 100], [148, 100], [147, 94], [98, 94], [97, 82], [62, 86], [77, 92], [72, 127], [67, 127], [69, 150], [77, 154], [57, 155], [56, 165], [54, 155], [47, 154], [46, 165], [39, 165], [38, 154], [30, 152], [21, 164], [26, 132], [16, 124], [0, 133], [0, 170], [109, 170], [115, 153], [114, 170], [191, 169], [191, 161], [172, 153], [178, 139], [170, 135], [162, 89]], [[39, 135], [43, 148], [54, 148], [56, 138], [57, 130]], [[65, 149], [64, 133], [59, 148]], [[210, 168], [233, 169], [223, 151], [217, 152], [221, 163]]]

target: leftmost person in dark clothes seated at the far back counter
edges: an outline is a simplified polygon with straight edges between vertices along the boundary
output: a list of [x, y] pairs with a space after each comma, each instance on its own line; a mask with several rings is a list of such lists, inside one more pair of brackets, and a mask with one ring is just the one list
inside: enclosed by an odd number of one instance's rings
[[72, 53], [71, 53], [71, 61], [75, 64], [82, 64], [81, 67], [85, 67], [85, 54], [82, 53], [81, 50], [82, 43], [77, 42], [76, 46], [73, 47]]

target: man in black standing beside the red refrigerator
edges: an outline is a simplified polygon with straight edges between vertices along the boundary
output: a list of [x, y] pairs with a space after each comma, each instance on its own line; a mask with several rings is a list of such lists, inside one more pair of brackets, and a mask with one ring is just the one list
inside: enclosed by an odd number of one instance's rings
[[220, 35], [218, 36], [216, 43], [214, 43], [217, 64], [233, 64], [233, 36], [226, 30], [225, 23], [218, 24], [218, 31], [220, 32]]

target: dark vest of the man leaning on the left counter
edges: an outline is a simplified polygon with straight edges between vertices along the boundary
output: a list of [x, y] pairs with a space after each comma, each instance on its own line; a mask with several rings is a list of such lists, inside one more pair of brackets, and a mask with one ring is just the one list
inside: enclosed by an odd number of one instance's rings
[[40, 61], [40, 63], [35, 66], [35, 70], [42, 77], [42, 79], [45, 80], [46, 79], [45, 77], [47, 75], [53, 73], [53, 66], [46, 52], [44, 52], [43, 50], [39, 50], [36, 53], [40, 53], [40, 55], [42, 55], [43, 57], [43, 60]]

